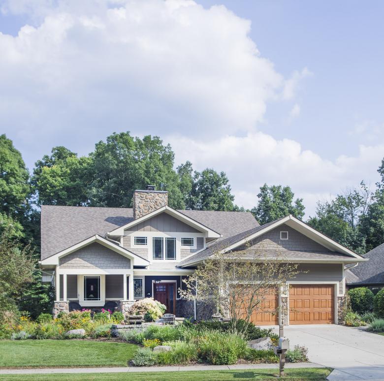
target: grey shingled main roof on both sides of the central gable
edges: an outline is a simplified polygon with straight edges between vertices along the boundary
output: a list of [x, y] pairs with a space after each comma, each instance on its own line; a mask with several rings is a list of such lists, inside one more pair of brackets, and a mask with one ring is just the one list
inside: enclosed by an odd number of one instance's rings
[[[187, 217], [208, 226], [223, 240], [242, 230], [259, 226], [249, 212], [179, 210]], [[95, 234], [106, 233], [133, 221], [131, 208], [84, 206], [41, 206], [41, 259], [67, 249]]]

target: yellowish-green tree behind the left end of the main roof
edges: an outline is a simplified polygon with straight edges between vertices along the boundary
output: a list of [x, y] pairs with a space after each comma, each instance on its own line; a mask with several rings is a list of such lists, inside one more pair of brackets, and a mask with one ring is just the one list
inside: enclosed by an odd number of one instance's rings
[[91, 182], [91, 159], [77, 157], [65, 147], [54, 147], [52, 155], [36, 161], [32, 184], [37, 204], [86, 206]]

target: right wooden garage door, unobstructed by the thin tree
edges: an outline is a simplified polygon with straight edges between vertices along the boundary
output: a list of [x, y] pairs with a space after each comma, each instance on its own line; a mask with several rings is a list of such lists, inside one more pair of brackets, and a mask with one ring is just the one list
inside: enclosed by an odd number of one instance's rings
[[290, 285], [289, 324], [334, 323], [333, 285]]

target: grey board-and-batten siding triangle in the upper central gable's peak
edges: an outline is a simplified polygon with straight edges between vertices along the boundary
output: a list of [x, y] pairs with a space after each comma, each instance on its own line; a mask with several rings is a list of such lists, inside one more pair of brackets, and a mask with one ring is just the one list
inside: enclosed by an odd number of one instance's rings
[[176, 233], [200, 233], [194, 227], [169, 216], [166, 213], [152, 217], [146, 221], [140, 222], [132, 226], [126, 231], [161, 231], [161, 232], [176, 232]]

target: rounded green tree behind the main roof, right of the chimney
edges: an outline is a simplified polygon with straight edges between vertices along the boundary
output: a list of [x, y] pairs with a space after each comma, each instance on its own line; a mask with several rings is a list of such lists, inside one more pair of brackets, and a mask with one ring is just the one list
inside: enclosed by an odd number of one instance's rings
[[207, 168], [194, 172], [191, 195], [187, 208], [196, 210], [233, 210], [234, 196], [231, 194], [229, 180], [224, 172]]

